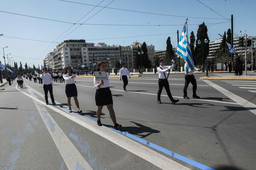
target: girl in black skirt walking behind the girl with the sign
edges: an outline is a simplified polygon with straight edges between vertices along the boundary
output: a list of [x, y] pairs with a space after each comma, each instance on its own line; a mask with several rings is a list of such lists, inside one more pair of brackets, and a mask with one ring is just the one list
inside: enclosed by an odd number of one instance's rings
[[74, 97], [76, 107], [77, 107], [77, 112], [81, 113], [82, 111], [79, 109], [79, 102], [77, 99], [77, 90], [76, 90], [76, 85], [75, 85], [75, 74], [72, 74], [72, 68], [70, 66], [67, 66], [65, 68], [65, 72], [63, 75], [63, 78], [66, 80], [66, 95], [67, 95], [67, 104], [69, 107], [69, 112], [72, 112], [71, 109], [71, 97]]

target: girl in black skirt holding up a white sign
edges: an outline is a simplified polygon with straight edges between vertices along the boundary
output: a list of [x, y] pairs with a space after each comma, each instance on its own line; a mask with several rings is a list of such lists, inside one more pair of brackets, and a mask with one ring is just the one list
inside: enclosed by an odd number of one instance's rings
[[[96, 71], [106, 71], [106, 63], [105, 62], [99, 62]], [[115, 116], [115, 112], [113, 110], [113, 99], [112, 99], [112, 94], [111, 91], [109, 89], [109, 75], [108, 73], [107, 80], [96, 80], [94, 77], [94, 88], [96, 89], [96, 94], [95, 94], [95, 101], [96, 101], [96, 105], [98, 106], [97, 110], [96, 110], [96, 114], [97, 114], [97, 124], [99, 126], [102, 126], [102, 123], [100, 122], [100, 116], [102, 113], [102, 108], [104, 105], [107, 106], [109, 114], [110, 114], [110, 118], [112, 119], [113, 123], [114, 123], [114, 127], [115, 129], [118, 129], [120, 127], [122, 127], [122, 125], [119, 125], [118, 123], [116, 123], [116, 116]]]

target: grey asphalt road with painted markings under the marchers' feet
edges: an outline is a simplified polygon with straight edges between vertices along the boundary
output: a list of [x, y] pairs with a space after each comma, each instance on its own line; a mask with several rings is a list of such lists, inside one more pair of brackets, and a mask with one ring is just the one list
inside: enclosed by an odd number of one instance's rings
[[[200, 80], [197, 95], [183, 99], [184, 75], [170, 75], [172, 105], [158, 75], [110, 77], [116, 119], [106, 107], [96, 125], [92, 77], [76, 77], [80, 109], [68, 113], [65, 84], [54, 83], [56, 106], [45, 105], [42, 85], [25, 79], [0, 87], [0, 169], [3, 170], [177, 170], [233, 166], [256, 169], [256, 95], [253, 81]], [[250, 86], [253, 85], [253, 86]]]

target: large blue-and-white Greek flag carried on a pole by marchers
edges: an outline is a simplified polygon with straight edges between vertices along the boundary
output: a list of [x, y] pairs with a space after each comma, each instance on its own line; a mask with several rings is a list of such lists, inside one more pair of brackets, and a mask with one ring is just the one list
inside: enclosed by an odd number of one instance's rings
[[195, 69], [194, 60], [189, 47], [189, 39], [186, 32], [186, 26], [184, 26], [180, 40], [177, 46], [176, 54], [186, 61], [185, 74], [189, 74]]

